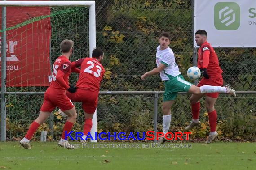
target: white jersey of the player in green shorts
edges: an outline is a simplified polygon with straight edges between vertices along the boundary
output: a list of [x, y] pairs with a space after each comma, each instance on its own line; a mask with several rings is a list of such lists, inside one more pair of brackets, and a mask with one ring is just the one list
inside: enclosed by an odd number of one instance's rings
[[156, 47], [156, 65], [159, 67], [160, 63], [166, 65], [166, 68], [160, 72], [160, 77], [162, 81], [170, 80], [173, 77], [178, 76], [181, 74], [179, 72], [179, 67], [175, 63], [174, 54], [170, 47], [166, 48], [165, 50], [160, 50], [160, 46]]

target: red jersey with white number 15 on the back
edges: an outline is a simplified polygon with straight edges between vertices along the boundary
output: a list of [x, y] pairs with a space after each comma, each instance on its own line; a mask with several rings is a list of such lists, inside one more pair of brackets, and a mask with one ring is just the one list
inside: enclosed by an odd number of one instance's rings
[[59, 56], [53, 64], [51, 88], [66, 90], [69, 88], [71, 62], [65, 56]]

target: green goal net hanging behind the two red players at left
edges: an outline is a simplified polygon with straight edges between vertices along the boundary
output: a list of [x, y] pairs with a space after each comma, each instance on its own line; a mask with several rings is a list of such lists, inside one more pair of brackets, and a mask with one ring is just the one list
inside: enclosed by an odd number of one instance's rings
[[[5, 100], [1, 98], [1, 102], [5, 102], [6, 108], [6, 115], [1, 111], [1, 132], [6, 134], [1, 133], [2, 141], [4, 136], [6, 140], [21, 139], [38, 116], [51, 80], [52, 64], [61, 55], [59, 45], [62, 40], [75, 42], [71, 61], [89, 57], [95, 47], [95, 9], [93, 25], [88, 5], [76, 6], [75, 1], [70, 5], [63, 4], [70, 1], [44, 1], [56, 5], [36, 6], [35, 2], [26, 1], [28, 6], [7, 6], [6, 28], [1, 22], [0, 32], [6, 32], [6, 88], [1, 89], [1, 92], [5, 91]], [[1, 5], [4, 6], [3, 1]], [[3, 41], [3, 37], [0, 38]], [[3, 56], [1, 54], [1, 61]], [[0, 71], [3, 72], [3, 68]], [[71, 73], [70, 84], [75, 85], [77, 78], [77, 74]], [[75, 103], [75, 108], [78, 120], [73, 129], [83, 132], [83, 110], [79, 103]], [[40, 140], [41, 131], [47, 131], [48, 140], [60, 139], [66, 118], [57, 110], [38, 128], [33, 139]]]

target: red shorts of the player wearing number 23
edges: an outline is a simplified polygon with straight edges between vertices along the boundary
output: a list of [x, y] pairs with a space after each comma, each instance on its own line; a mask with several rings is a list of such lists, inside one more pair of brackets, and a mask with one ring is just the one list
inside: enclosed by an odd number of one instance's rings
[[82, 102], [82, 108], [86, 113], [93, 114], [95, 112], [98, 105], [99, 92], [78, 88], [75, 93], [66, 91], [66, 95], [73, 102]]

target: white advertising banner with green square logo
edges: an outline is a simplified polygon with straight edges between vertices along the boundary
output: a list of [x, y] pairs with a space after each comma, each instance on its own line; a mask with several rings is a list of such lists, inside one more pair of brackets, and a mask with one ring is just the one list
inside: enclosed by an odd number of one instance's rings
[[256, 47], [256, 0], [195, 0], [198, 29], [206, 30], [212, 47]]

